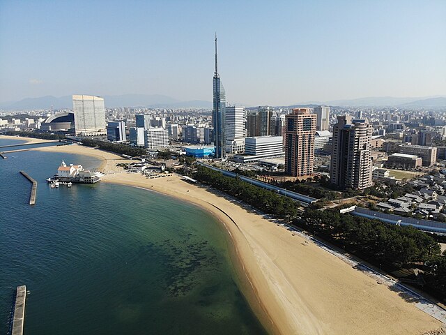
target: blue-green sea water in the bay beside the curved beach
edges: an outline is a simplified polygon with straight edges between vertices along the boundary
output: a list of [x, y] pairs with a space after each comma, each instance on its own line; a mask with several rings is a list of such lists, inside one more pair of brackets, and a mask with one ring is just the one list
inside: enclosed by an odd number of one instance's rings
[[[266, 334], [213, 216], [139, 188], [49, 188], [62, 159], [98, 165], [39, 151], [0, 161], [0, 333], [26, 285], [24, 334]], [[35, 206], [19, 170], [38, 181]]]

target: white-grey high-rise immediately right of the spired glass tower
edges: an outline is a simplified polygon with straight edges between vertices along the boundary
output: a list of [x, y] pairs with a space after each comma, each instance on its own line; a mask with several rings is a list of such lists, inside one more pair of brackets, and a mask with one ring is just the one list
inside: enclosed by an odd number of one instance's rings
[[246, 137], [245, 107], [226, 106], [226, 152], [243, 154]]

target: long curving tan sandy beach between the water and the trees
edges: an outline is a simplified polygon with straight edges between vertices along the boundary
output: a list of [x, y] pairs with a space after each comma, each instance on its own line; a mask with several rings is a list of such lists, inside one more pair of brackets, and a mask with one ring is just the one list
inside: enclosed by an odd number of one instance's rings
[[125, 159], [97, 149], [39, 150], [95, 156], [109, 173], [103, 182], [146, 188], [210, 211], [231, 237], [242, 289], [271, 334], [421, 335], [443, 326], [386, 285], [218, 191], [175, 174], [147, 179], [121, 172], [116, 163]]

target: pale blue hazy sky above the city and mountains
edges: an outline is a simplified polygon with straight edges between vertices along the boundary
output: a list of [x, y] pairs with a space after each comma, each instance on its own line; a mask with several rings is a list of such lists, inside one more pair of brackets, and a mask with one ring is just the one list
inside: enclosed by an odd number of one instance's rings
[[0, 101], [164, 94], [229, 103], [446, 95], [446, 0], [0, 0]]

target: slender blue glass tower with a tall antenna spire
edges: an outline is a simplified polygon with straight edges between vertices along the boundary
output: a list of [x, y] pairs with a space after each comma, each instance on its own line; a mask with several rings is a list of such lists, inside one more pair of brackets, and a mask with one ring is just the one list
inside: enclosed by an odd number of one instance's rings
[[213, 142], [215, 145], [215, 158], [223, 158], [226, 156], [226, 139], [225, 137], [225, 109], [226, 109], [226, 95], [220, 75], [217, 70], [217, 35], [215, 35], [215, 73], [213, 77], [213, 112], [212, 112], [212, 126]]

